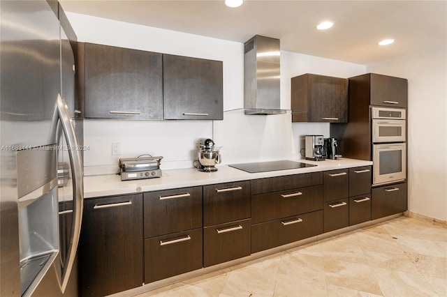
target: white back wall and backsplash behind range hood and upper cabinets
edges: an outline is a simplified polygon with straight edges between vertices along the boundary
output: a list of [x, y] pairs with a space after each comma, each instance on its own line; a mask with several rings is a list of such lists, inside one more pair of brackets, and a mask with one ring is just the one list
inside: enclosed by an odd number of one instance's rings
[[[195, 56], [223, 61], [223, 121], [111, 121], [84, 123], [85, 173], [117, 171], [119, 158], [142, 153], [163, 155], [162, 169], [191, 167], [194, 142], [211, 137], [222, 146], [222, 163], [300, 158], [300, 137], [329, 137], [328, 123], [291, 123], [291, 115], [245, 116], [243, 44], [187, 33], [156, 29], [87, 15], [67, 13], [78, 40], [138, 50]], [[281, 51], [281, 108], [290, 108], [291, 77], [318, 73], [350, 77], [366, 67]], [[233, 110], [239, 109], [239, 110]], [[122, 155], [111, 155], [111, 144], [122, 145]]]

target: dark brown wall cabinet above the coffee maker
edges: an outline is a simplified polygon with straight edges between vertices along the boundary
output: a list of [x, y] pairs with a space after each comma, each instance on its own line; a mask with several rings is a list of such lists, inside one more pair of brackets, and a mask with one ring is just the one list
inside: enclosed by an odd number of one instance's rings
[[348, 79], [307, 73], [291, 87], [292, 122], [348, 122]]

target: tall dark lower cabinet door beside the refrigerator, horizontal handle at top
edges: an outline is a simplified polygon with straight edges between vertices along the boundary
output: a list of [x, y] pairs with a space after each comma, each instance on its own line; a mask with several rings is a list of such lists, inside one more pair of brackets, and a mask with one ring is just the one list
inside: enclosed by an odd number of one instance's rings
[[143, 282], [142, 195], [86, 199], [80, 237], [82, 296]]

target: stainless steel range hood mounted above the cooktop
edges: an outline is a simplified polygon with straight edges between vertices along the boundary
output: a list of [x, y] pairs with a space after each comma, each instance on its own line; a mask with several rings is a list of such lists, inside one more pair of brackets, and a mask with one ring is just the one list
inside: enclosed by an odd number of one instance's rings
[[279, 39], [256, 35], [244, 44], [245, 114], [285, 114], [280, 107]]

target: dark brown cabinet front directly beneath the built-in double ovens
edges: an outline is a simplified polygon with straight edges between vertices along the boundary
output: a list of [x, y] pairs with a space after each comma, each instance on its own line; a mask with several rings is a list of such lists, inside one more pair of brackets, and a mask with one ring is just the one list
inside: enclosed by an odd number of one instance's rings
[[403, 213], [407, 209], [406, 183], [372, 188], [371, 195], [372, 220]]

